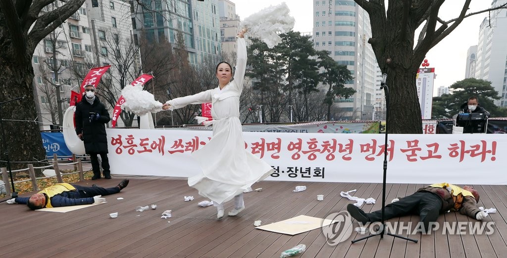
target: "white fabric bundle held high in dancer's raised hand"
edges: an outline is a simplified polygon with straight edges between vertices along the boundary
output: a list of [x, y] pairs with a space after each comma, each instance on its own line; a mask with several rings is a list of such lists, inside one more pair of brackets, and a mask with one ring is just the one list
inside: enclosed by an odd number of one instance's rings
[[240, 28], [247, 29], [249, 37], [260, 38], [271, 49], [282, 40], [277, 32], [286, 33], [294, 28], [295, 20], [289, 12], [285, 3], [270, 6], [245, 18]]

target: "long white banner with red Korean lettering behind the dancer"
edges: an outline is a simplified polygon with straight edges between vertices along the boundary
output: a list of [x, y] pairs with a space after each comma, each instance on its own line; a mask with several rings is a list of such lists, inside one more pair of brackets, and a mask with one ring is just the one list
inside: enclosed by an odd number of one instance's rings
[[[190, 153], [211, 132], [108, 128], [113, 174], [191, 177]], [[245, 147], [272, 165], [267, 180], [381, 183], [383, 134], [243, 133]], [[388, 135], [387, 182], [505, 185], [507, 138], [498, 135]], [[503, 168], [502, 168], [503, 167]]]

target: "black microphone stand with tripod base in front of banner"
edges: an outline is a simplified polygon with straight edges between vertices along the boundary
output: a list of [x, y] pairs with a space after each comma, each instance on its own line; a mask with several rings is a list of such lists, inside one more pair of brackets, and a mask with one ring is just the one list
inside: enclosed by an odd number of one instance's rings
[[393, 237], [398, 237], [398, 238], [402, 238], [402, 239], [405, 239], [405, 240], [408, 240], [408, 241], [412, 241], [414, 243], [417, 243], [417, 240], [415, 239], [411, 239], [411, 238], [408, 238], [408, 237], [404, 237], [404, 236], [399, 236], [399, 235], [394, 235], [394, 234], [391, 234], [389, 232], [385, 232], [385, 229], [386, 229], [386, 226], [385, 226], [385, 222], [384, 222], [384, 211], [385, 211], [385, 179], [386, 179], [386, 175], [387, 175], [387, 121], [388, 121], [388, 117], [389, 117], [389, 88], [387, 87], [387, 84], [386, 84], [386, 80], [387, 80], [387, 74], [382, 74], [382, 82], [380, 83], [380, 89], [384, 89], [384, 92], [385, 92], [385, 108], [386, 108], [386, 113], [385, 113], [385, 120], [386, 120], [386, 124], [385, 124], [385, 147], [384, 147], [384, 180], [382, 181], [382, 215], [381, 215], [381, 228], [379, 229], [380, 233], [379, 234], [371, 234], [369, 236], [365, 236], [365, 237], [361, 237], [359, 239], [354, 239], [352, 240], [352, 243], [355, 243], [355, 242], [358, 242], [358, 241], [361, 241], [361, 240], [364, 240], [364, 239], [368, 239], [370, 237], [373, 237], [373, 236], [376, 236], [376, 235], [380, 235], [380, 238], [383, 239], [384, 238], [384, 234], [386, 235], [389, 235], [389, 236], [393, 236]]

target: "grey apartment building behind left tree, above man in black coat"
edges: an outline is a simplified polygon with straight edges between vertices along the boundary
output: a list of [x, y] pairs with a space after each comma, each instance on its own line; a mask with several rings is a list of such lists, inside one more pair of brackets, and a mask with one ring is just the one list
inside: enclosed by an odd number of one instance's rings
[[[57, 7], [56, 4], [48, 5], [42, 13]], [[122, 51], [119, 49], [123, 46], [121, 42], [131, 40], [131, 31], [130, 9], [125, 1], [87, 0], [75, 14], [39, 43], [33, 54], [32, 65], [41, 129], [56, 129], [51, 125], [61, 124], [57, 100], [60, 100], [64, 113], [69, 106], [70, 91], [79, 93], [83, 80], [80, 76], [88, 72], [88, 65], [112, 65], [108, 75], [102, 78], [110, 80], [113, 87], [121, 88], [120, 80], [114, 79], [121, 77], [118, 75], [119, 69], [135, 70], [135, 67], [121, 67], [115, 59]], [[56, 86], [59, 91], [56, 91]]]

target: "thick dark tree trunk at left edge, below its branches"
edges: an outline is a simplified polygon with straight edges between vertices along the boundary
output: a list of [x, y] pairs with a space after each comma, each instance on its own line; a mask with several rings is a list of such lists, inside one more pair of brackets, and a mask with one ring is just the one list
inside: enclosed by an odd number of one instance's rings
[[[11, 162], [44, 160], [46, 151], [42, 146], [39, 126], [34, 122], [37, 119], [37, 110], [32, 89], [33, 67], [30, 60], [26, 60], [25, 65], [18, 65], [16, 62], [3, 59], [0, 61], [0, 70], [2, 71], [0, 81], [3, 82], [0, 85], [0, 102], [26, 96], [24, 99], [1, 105], [0, 114], [4, 119], [3, 137], [0, 139], [2, 150], [9, 151]], [[2, 160], [6, 160], [5, 155], [2, 155]], [[0, 166], [7, 167], [7, 163], [0, 162]], [[26, 167], [26, 163], [11, 163], [12, 169]]]

